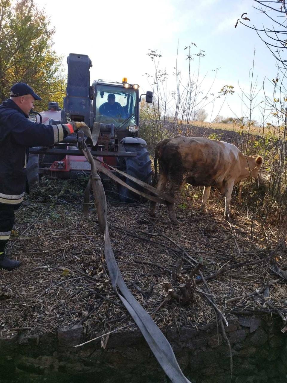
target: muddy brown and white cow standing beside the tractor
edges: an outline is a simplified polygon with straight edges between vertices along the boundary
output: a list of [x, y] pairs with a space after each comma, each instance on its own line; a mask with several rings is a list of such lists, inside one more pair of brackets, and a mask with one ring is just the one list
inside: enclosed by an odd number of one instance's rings
[[[155, 176], [159, 178], [157, 189], [163, 191], [169, 183], [168, 194], [172, 197], [183, 185], [204, 186], [200, 211], [203, 213], [214, 186], [225, 196], [224, 216], [230, 217], [230, 199], [233, 185], [243, 178], [261, 178], [261, 155], [245, 155], [228, 142], [202, 137], [176, 136], [158, 142], [155, 148]], [[151, 202], [150, 215], [155, 215], [155, 202]], [[177, 223], [173, 204], [168, 203], [172, 222]]]

